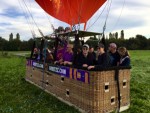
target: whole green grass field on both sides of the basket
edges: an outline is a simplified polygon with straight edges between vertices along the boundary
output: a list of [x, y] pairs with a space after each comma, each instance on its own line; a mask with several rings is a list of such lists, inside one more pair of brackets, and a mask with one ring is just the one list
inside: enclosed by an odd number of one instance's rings
[[[130, 51], [131, 106], [123, 113], [150, 113], [150, 51]], [[23, 57], [0, 56], [0, 113], [79, 113], [26, 82]]]

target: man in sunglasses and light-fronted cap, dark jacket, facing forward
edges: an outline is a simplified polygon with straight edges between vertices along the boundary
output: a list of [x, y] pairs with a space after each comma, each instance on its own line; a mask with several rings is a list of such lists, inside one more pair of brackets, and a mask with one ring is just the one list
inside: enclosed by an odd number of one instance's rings
[[89, 65], [94, 64], [94, 56], [89, 53], [89, 45], [84, 44], [82, 46], [82, 52], [79, 53], [77, 60], [76, 60], [76, 65], [78, 67], [88, 67]]

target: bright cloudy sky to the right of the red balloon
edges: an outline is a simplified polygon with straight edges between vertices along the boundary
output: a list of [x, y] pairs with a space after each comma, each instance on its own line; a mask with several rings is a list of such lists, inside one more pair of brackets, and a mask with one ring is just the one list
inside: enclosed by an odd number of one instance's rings
[[[141, 33], [144, 36], [150, 36], [147, 28], [150, 26], [148, 15], [150, 13], [150, 3], [146, 0], [115, 0], [112, 1], [109, 16], [106, 23], [106, 34], [109, 32], [120, 32], [122, 29], [126, 32], [126, 37], [135, 36], [137, 33]], [[104, 7], [103, 7], [104, 8]], [[102, 8], [102, 9], [103, 9]], [[91, 19], [89, 23], [93, 23], [102, 10], [99, 10], [94, 19]], [[101, 17], [90, 28], [92, 31], [103, 31], [104, 22], [106, 20], [106, 8], [101, 14]], [[149, 37], [148, 37], [149, 38]]]

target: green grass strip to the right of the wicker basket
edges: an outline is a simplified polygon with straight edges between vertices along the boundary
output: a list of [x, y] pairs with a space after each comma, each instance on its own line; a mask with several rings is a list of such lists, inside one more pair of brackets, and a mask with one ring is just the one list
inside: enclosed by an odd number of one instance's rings
[[130, 51], [131, 107], [124, 113], [150, 113], [150, 51]]

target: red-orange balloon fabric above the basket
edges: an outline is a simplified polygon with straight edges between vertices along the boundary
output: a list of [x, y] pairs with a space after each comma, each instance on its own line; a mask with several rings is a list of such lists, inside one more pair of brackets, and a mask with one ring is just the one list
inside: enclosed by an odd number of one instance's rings
[[48, 14], [70, 25], [86, 23], [106, 0], [35, 0]]

